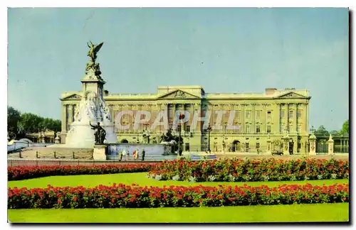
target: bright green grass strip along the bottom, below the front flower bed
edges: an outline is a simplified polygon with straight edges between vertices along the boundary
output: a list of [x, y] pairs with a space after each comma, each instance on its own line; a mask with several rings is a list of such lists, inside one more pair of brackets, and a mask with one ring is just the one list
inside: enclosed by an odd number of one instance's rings
[[348, 221], [349, 204], [157, 209], [9, 209], [12, 223], [248, 223]]

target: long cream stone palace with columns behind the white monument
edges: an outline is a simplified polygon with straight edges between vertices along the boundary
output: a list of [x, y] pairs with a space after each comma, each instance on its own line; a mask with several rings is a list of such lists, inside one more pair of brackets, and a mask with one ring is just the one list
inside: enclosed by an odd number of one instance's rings
[[[86, 81], [82, 80], [83, 85], [88, 83]], [[61, 94], [62, 143], [74, 121], [80, 99], [84, 97], [83, 90]], [[115, 125], [125, 126], [116, 130], [117, 141], [120, 142], [147, 142], [143, 136], [145, 133], [150, 136], [150, 143], [159, 143], [167, 128], [172, 128], [175, 134], [180, 128], [184, 151], [204, 151], [210, 143], [213, 153], [257, 153], [266, 152], [268, 137], [272, 150], [281, 150], [283, 135], [288, 132], [289, 152], [308, 152], [308, 90], [268, 88], [261, 93], [227, 94], [205, 92], [201, 86], [164, 86], [158, 87], [155, 94], [109, 94], [105, 90], [103, 97]], [[122, 111], [132, 112], [119, 117]], [[135, 121], [142, 120], [142, 115], [145, 117], [140, 111], [149, 111], [150, 119], [146, 117], [147, 121], [135, 124]], [[174, 119], [177, 121], [177, 114], [184, 111], [192, 115], [182, 126], [175, 126]], [[168, 127], [154, 126], [161, 112], [167, 114]], [[195, 122], [196, 114], [203, 118], [210, 114], [209, 121]], [[212, 126], [210, 133], [208, 124]]]

